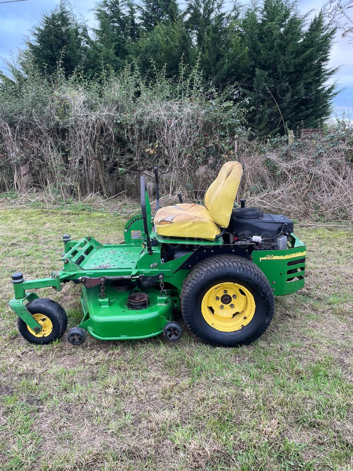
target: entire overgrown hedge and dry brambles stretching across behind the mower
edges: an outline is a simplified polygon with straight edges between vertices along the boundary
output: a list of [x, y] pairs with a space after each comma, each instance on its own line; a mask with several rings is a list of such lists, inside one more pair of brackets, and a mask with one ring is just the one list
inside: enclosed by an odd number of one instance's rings
[[175, 84], [161, 73], [150, 85], [127, 66], [104, 83], [58, 73], [48, 84], [32, 72], [7, 84], [0, 91], [1, 191], [137, 197], [140, 173], [151, 177], [152, 190], [158, 165], [164, 203], [180, 189], [201, 202], [220, 165], [236, 159], [248, 205], [298, 218], [352, 218], [350, 127], [294, 146], [286, 138], [249, 142], [245, 103], [206, 96], [197, 69], [182, 77]]

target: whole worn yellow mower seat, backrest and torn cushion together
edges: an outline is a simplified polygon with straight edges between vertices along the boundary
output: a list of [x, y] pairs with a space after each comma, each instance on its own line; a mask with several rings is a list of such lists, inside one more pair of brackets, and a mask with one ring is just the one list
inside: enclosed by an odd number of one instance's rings
[[179, 203], [160, 208], [154, 217], [159, 235], [214, 240], [220, 227], [228, 227], [241, 181], [239, 162], [226, 162], [205, 195], [205, 206]]

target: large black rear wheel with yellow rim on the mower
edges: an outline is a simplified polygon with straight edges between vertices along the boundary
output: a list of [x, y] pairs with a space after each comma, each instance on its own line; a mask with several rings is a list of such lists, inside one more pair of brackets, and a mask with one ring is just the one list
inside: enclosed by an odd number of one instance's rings
[[273, 318], [274, 296], [253, 262], [237, 255], [215, 255], [202, 260], [185, 279], [181, 310], [200, 340], [239, 347], [266, 331]]

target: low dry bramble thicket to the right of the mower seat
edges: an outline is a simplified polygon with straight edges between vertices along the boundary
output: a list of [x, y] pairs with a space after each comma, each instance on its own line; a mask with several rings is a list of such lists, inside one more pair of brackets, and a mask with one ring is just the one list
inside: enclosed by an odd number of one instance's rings
[[352, 220], [353, 132], [252, 144], [241, 155], [249, 205], [301, 219]]

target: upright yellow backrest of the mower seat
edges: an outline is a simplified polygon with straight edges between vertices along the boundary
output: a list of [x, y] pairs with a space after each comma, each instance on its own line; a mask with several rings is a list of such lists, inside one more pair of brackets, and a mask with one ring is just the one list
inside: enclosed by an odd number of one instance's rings
[[211, 218], [221, 227], [229, 225], [242, 173], [240, 162], [225, 162], [206, 192], [205, 206]]

